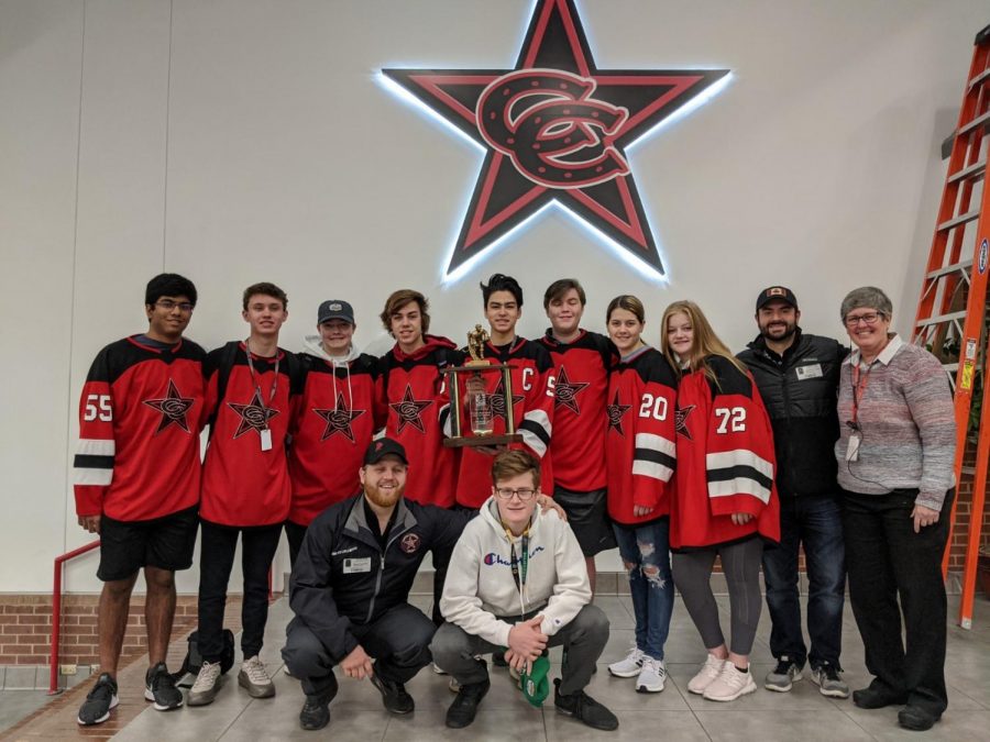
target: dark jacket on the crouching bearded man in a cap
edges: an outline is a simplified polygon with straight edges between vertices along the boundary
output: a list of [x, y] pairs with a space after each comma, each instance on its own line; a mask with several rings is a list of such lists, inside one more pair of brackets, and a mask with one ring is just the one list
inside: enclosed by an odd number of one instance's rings
[[289, 606], [339, 661], [358, 645], [352, 623], [407, 602], [432, 549], [452, 550], [474, 516], [399, 500], [383, 551], [367, 525], [364, 495], [327, 508], [306, 531], [293, 567]]

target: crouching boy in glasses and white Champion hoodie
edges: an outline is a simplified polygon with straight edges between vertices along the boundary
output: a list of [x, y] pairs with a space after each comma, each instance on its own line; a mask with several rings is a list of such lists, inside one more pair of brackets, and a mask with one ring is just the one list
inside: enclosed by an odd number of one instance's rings
[[540, 512], [540, 465], [526, 451], [507, 451], [492, 465], [492, 497], [454, 547], [433, 635], [433, 661], [460, 684], [447, 726], [474, 721], [488, 691], [477, 655], [508, 647], [510, 667], [525, 671], [549, 646], [563, 645], [553, 704], [588, 727], [618, 720], [584, 693], [608, 640], [608, 619], [592, 598], [578, 539], [556, 512]]

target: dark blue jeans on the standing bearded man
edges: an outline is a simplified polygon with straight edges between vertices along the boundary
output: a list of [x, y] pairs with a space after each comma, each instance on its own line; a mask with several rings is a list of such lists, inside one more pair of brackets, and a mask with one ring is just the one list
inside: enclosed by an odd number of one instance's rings
[[[798, 597], [798, 546], [804, 544], [807, 566], [807, 634], [801, 633]], [[842, 506], [835, 497], [782, 497], [780, 545], [763, 550], [763, 579], [770, 609], [770, 652], [803, 667], [839, 665], [843, 650], [843, 603], [846, 565]]]

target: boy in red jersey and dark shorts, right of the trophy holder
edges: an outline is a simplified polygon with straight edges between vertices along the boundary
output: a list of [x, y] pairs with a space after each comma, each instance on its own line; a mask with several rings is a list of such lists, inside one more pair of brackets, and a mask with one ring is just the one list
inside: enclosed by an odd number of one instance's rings
[[602, 452], [608, 372], [618, 362], [618, 352], [605, 335], [581, 329], [586, 303], [578, 279], [553, 281], [543, 294], [550, 326], [540, 343], [550, 352], [557, 375], [550, 441], [553, 499], [568, 513], [594, 593], [595, 554], [615, 549]]

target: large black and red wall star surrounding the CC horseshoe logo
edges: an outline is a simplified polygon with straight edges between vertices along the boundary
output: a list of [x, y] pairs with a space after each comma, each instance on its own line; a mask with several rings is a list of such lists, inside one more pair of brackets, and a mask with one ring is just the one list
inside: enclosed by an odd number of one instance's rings
[[[519, 70], [575, 75], [593, 88], [595, 101], [624, 111], [622, 123], [597, 139], [603, 145], [614, 146], [625, 171], [604, 182], [554, 187], [525, 175], [513, 158], [494, 148], [479, 126], [479, 102], [492, 82]], [[382, 70], [486, 151], [448, 275], [554, 201], [663, 275], [660, 253], [625, 152], [729, 71], [598, 69], [573, 0], [539, 0], [513, 69]]]

